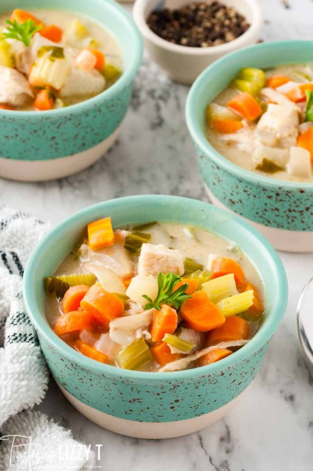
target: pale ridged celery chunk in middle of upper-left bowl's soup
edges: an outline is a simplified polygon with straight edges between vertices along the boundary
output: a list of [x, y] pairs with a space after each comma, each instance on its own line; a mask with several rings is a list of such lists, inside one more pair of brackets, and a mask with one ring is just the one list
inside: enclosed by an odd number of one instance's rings
[[38, 50], [39, 55], [31, 68], [29, 83], [32, 86], [49, 85], [56, 90], [60, 90], [70, 72], [67, 60], [64, 56], [62, 58], [63, 48], [53, 46], [53, 48], [46, 51], [43, 49], [44, 47], [41, 47]]

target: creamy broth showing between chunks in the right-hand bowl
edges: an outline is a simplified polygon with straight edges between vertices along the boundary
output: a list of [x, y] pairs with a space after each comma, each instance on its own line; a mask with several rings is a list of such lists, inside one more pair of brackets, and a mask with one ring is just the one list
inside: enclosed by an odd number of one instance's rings
[[[294, 73], [299, 72], [293, 80], [295, 82], [301, 80], [301, 74], [312, 76], [313, 80], [313, 65], [305, 65], [305, 64], [296, 64], [296, 65], [284, 65], [272, 69], [265, 70], [266, 78], [272, 77], [273, 75], [282, 75], [282, 76], [289, 76], [293, 77]], [[300, 83], [300, 82], [299, 82]], [[234, 87], [228, 87], [223, 90], [214, 100], [214, 103], [218, 105], [222, 105], [226, 107], [227, 103], [232, 100], [236, 95], [238, 95], [239, 91]], [[291, 102], [292, 105], [292, 102]], [[304, 120], [303, 113], [304, 113], [304, 104], [299, 103], [297, 104], [300, 111], [300, 123]], [[248, 123], [246, 129], [249, 129], [251, 133], [253, 133], [256, 129], [257, 120], [255, 122]], [[246, 124], [245, 124], [246, 125]], [[239, 131], [241, 133], [242, 130]], [[207, 123], [206, 125], [206, 137], [210, 144], [224, 157], [228, 160], [233, 162], [234, 164], [243, 167], [246, 170], [250, 170], [254, 173], [259, 175], [268, 176], [273, 179], [280, 179], [280, 180], [289, 180], [289, 181], [313, 181], [313, 177], [305, 177], [302, 178], [301, 176], [294, 176], [292, 175], [287, 169], [276, 171], [275, 173], [265, 173], [264, 171], [260, 171], [256, 169], [256, 160], [253, 157], [253, 148], [244, 149], [238, 146], [236, 141], [228, 140], [227, 134], [221, 134], [214, 131], [214, 129]], [[257, 144], [256, 144], [257, 146]], [[278, 146], [280, 147], [280, 146]], [[264, 157], [267, 157], [265, 154]]]

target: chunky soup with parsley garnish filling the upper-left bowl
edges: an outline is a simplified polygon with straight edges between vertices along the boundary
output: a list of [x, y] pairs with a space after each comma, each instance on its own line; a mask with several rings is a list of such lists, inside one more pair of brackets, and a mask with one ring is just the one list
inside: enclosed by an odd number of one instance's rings
[[101, 93], [120, 77], [121, 50], [104, 26], [60, 10], [0, 16], [0, 108], [52, 110]]

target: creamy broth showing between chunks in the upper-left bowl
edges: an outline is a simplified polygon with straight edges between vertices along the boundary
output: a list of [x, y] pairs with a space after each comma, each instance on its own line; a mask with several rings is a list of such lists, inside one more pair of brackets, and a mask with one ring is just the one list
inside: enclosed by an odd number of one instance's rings
[[[64, 54], [71, 69], [75, 67], [74, 65], [75, 57], [77, 57], [82, 50], [96, 49], [104, 54], [105, 67], [109, 65], [110, 67], [111, 66], [114, 67], [116, 70], [122, 71], [123, 69], [122, 51], [118, 44], [118, 41], [113, 36], [113, 34], [100, 22], [96, 22], [93, 19], [78, 15], [76, 13], [69, 12], [67, 10], [30, 9], [29, 13], [34, 15], [36, 18], [40, 19], [40, 21], [45, 23], [45, 25], [52, 24], [52, 25], [57, 25], [59, 28], [61, 28], [63, 32], [62, 40], [61, 42], [55, 43], [55, 45], [64, 47]], [[0, 31], [7, 27], [6, 20], [10, 18], [10, 15], [11, 13], [0, 15]], [[69, 38], [69, 35], [67, 34], [67, 30], [72, 24], [72, 22], [79, 22], [79, 24], [81, 25], [80, 27], [85, 28], [85, 37], [81, 39], [77, 39], [77, 42], [75, 42], [74, 40], [71, 40]], [[34, 51], [33, 46], [36, 42], [39, 42], [40, 45], [44, 45], [44, 46], [53, 44], [45, 40], [45, 38], [39, 35], [40, 33], [37, 32], [31, 38], [31, 45], [30, 45], [30, 48], [28, 49], [32, 51], [32, 57], [31, 58], [27, 57], [27, 61], [30, 61], [29, 65], [32, 64], [32, 61], [33, 61], [33, 64], [35, 63], [35, 61], [38, 61], [38, 57], [36, 58], [36, 54], [33, 53]], [[90, 39], [90, 44], [89, 44], [89, 39]], [[14, 43], [12, 43], [11, 45], [10, 53], [12, 54], [12, 57], [14, 59], [14, 56], [16, 55], [16, 51], [19, 51], [20, 49], [22, 50], [23, 43], [18, 42], [16, 40], [13, 40], [13, 41]], [[7, 40], [7, 42], [10, 42], [10, 40]], [[25, 48], [25, 50], [22, 51], [23, 53], [25, 52], [25, 57], [27, 56], [26, 49], [27, 48]], [[80, 69], [80, 70], [83, 70], [83, 69]], [[106, 77], [104, 70], [105, 68], [103, 70], [92, 69], [88, 72], [96, 75], [96, 78], [98, 79], [98, 83], [99, 83], [99, 80], [101, 79], [101, 77], [99, 76], [100, 72], [104, 77]], [[28, 77], [28, 71], [27, 73], [23, 69], [18, 69], [18, 71], [22, 73], [24, 76], [26, 76], [26, 78], [29, 80], [29, 83], [30, 83], [30, 77]], [[88, 90], [89, 86], [90, 88], [97, 87], [96, 92], [86, 92], [86, 94], [82, 94], [80, 92], [77, 95], [75, 94], [71, 95], [70, 93], [67, 92], [66, 95], [63, 96], [63, 88], [58, 89], [58, 90], [53, 90], [53, 86], [52, 86], [52, 91], [56, 97], [59, 97], [62, 99], [63, 105], [69, 106], [69, 105], [73, 105], [75, 103], [79, 103], [81, 101], [87, 100], [90, 97], [109, 88], [114, 83], [114, 81], [116, 81], [116, 79], [114, 78], [113, 80], [110, 80], [110, 79], [108, 80], [108, 78], [106, 78], [104, 81], [104, 86], [101, 88], [101, 85], [98, 85], [98, 83], [94, 85], [93, 82], [89, 83], [89, 79], [83, 78], [81, 87], [85, 87], [86, 90]], [[79, 80], [81, 80], [81, 77], [78, 77], [77, 81]], [[65, 82], [65, 84], [67, 84], [67, 82]], [[32, 86], [31, 86], [31, 89], [33, 90]], [[0, 92], [1, 92], [1, 84], [0, 84]], [[1, 93], [0, 93], [0, 96], [1, 96]], [[9, 101], [5, 103], [8, 103], [10, 105]], [[15, 109], [24, 110], [24, 111], [33, 111], [33, 110], [36, 110], [36, 107], [34, 103], [32, 102], [32, 100], [28, 99], [22, 105], [16, 106]]]

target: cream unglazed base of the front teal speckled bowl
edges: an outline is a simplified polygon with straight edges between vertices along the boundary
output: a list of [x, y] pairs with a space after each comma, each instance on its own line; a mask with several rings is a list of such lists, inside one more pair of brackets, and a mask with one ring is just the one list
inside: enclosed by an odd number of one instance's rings
[[127, 435], [128, 437], [134, 438], [146, 438], [146, 439], [162, 439], [162, 438], [174, 438], [182, 435], [188, 435], [189, 433], [197, 432], [202, 428], [205, 428], [214, 422], [221, 419], [228, 410], [237, 403], [239, 398], [244, 394], [242, 392], [239, 396], [233, 399], [230, 403], [225, 404], [217, 410], [209, 412], [208, 414], [201, 415], [201, 417], [195, 417], [193, 419], [179, 420], [177, 422], [135, 422], [133, 420], [120, 419], [119, 417], [113, 417], [112, 415], [100, 412], [89, 405], [83, 404], [78, 401], [74, 396], [67, 392], [61, 384], [57, 382], [59, 388], [73, 404], [73, 406], [81, 412], [85, 417], [94, 422], [95, 424], [107, 428], [115, 433], [121, 435]]

